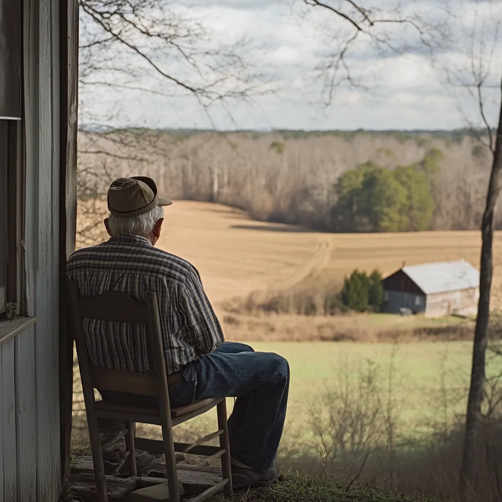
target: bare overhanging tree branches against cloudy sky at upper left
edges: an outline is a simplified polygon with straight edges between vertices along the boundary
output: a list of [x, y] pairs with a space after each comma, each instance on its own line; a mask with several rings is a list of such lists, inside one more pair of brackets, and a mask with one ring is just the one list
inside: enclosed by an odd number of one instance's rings
[[267, 92], [246, 41], [216, 40], [171, 0], [80, 0], [80, 85], [215, 101]]

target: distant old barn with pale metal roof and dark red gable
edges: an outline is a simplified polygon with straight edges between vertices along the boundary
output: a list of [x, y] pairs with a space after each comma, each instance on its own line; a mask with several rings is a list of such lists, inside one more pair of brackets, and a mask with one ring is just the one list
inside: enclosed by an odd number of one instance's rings
[[475, 314], [479, 272], [465, 260], [404, 266], [384, 279], [386, 312], [423, 312], [427, 317]]

